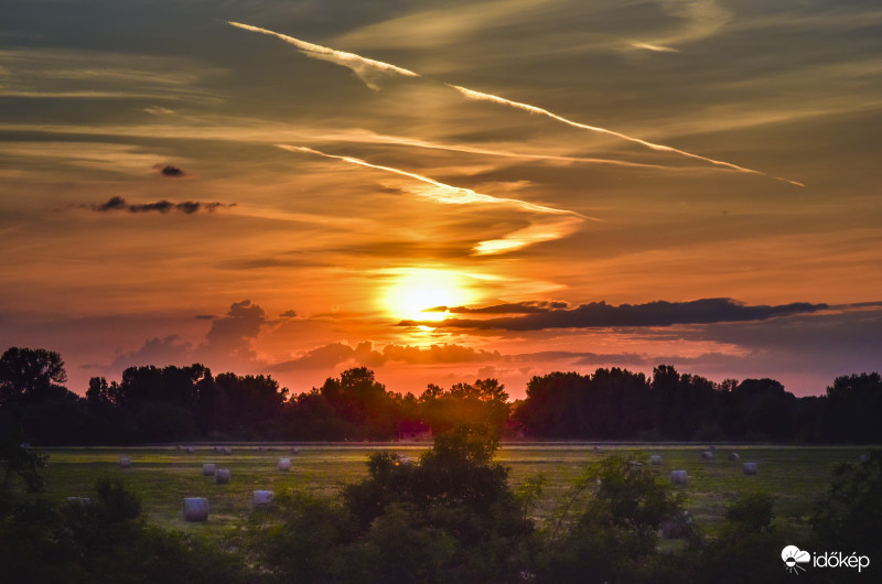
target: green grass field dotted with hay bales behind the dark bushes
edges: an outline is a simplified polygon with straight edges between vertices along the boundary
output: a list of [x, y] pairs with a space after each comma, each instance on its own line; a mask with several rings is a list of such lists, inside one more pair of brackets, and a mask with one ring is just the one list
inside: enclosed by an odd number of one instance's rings
[[[223, 455], [211, 445], [193, 445], [195, 453], [171, 447], [89, 447], [44, 448], [50, 455], [44, 469], [45, 491], [42, 496], [61, 501], [66, 497], [94, 497], [95, 482], [103, 476], [119, 477], [141, 497], [149, 521], [166, 529], [178, 529], [196, 537], [215, 540], [238, 530], [251, 510], [251, 491], [276, 493], [305, 490], [334, 495], [343, 485], [366, 475], [370, 453], [397, 452], [417, 458], [428, 445], [418, 444], [300, 444], [292, 454], [291, 445], [229, 444], [232, 455]], [[833, 468], [843, 462], [856, 463], [865, 446], [819, 447], [774, 445], [719, 445], [711, 461], [702, 461], [707, 445], [687, 444], [604, 444], [598, 451], [592, 444], [574, 443], [504, 443], [496, 459], [512, 469], [512, 486], [538, 475], [545, 477], [542, 496], [535, 515], [547, 519], [556, 505], [566, 498], [574, 479], [592, 462], [612, 454], [642, 456], [660, 454], [663, 464], [652, 468], [658, 479], [667, 482], [671, 469], [689, 474], [686, 487], [676, 487], [686, 497], [686, 507], [696, 522], [709, 532], [722, 518], [725, 506], [739, 494], [765, 491], [774, 497], [777, 524], [800, 533], [808, 530], [814, 502], [828, 488]], [[729, 462], [727, 455], [738, 452], [741, 459]], [[132, 461], [130, 468], [120, 468], [120, 456]], [[291, 458], [289, 473], [276, 469], [280, 457]], [[232, 480], [216, 485], [202, 476], [203, 463], [229, 468]], [[742, 463], [755, 462], [756, 476], [745, 476]], [[33, 496], [32, 496], [33, 497]], [[181, 518], [184, 497], [207, 497], [211, 518], [206, 523], [186, 523]]]

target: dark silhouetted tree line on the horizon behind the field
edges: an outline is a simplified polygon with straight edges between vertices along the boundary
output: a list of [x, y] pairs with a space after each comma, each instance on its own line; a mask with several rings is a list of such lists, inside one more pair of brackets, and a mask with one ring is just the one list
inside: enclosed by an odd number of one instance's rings
[[136, 444], [187, 440], [394, 440], [407, 424], [434, 434], [487, 424], [503, 436], [560, 440], [882, 443], [878, 372], [837, 378], [797, 398], [774, 379], [713, 382], [659, 365], [534, 377], [508, 401], [496, 379], [421, 392], [388, 391], [365, 367], [291, 394], [270, 376], [213, 375], [200, 364], [142, 366], [119, 381], [69, 391], [64, 361], [45, 349], [0, 357], [0, 432], [21, 426], [37, 444]]

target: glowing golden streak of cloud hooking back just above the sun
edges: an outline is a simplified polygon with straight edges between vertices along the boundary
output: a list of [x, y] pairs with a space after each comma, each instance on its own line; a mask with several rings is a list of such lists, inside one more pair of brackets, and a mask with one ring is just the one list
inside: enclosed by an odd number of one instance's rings
[[391, 166], [383, 166], [379, 164], [372, 164], [361, 159], [352, 156], [340, 156], [336, 154], [327, 154], [319, 150], [306, 147], [293, 147], [288, 144], [276, 144], [283, 150], [290, 152], [302, 152], [306, 154], [314, 154], [333, 160], [340, 160], [349, 164], [357, 164], [369, 169], [376, 169], [384, 172], [398, 174], [408, 179], [430, 185], [431, 188], [417, 188], [411, 190], [415, 194], [431, 198], [437, 203], [444, 203], [450, 205], [470, 205], [470, 204], [490, 204], [490, 205], [505, 205], [517, 208], [519, 210], [538, 213], [542, 215], [558, 216], [553, 220], [536, 220], [529, 227], [518, 229], [498, 239], [491, 239], [481, 241], [474, 248], [474, 252], [478, 256], [505, 253], [526, 246], [538, 244], [541, 241], [551, 241], [560, 239], [571, 234], [576, 225], [580, 224], [583, 219], [599, 220], [593, 217], [585, 217], [572, 210], [558, 209], [555, 207], [547, 207], [545, 205], [537, 205], [527, 201], [517, 198], [494, 197], [472, 191], [471, 188], [463, 188], [441, 183], [421, 174], [402, 171]]

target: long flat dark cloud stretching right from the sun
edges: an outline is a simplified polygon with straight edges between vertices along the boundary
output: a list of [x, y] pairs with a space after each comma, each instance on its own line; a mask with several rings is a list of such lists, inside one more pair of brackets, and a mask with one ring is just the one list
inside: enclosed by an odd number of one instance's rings
[[[700, 299], [689, 302], [655, 301], [646, 304], [621, 304], [614, 306], [605, 302], [581, 304], [573, 309], [558, 309], [551, 305], [501, 304], [488, 306], [490, 313], [506, 311], [512, 313], [523, 306], [524, 316], [496, 318], [447, 318], [441, 322], [422, 323], [401, 321], [401, 326], [430, 324], [433, 327], [501, 329], [501, 331], [542, 331], [546, 328], [605, 328], [670, 326], [675, 324], [710, 324], [725, 322], [765, 321], [775, 316], [813, 313], [827, 309], [827, 304], [794, 302], [777, 306], [749, 306], [732, 299]], [[460, 309], [453, 309], [456, 312]], [[466, 309], [477, 313], [482, 309]]]

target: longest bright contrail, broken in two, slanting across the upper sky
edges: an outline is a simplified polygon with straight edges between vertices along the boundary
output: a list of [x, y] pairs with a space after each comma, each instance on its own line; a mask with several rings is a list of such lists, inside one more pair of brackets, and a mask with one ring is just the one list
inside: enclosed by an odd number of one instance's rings
[[[418, 73], [413, 73], [412, 71], [409, 71], [409, 69], [406, 69], [406, 68], [402, 68], [402, 67], [398, 67], [398, 66], [391, 65], [389, 63], [384, 63], [381, 61], [374, 61], [372, 58], [363, 57], [363, 56], [356, 55], [354, 53], [345, 53], [343, 51], [336, 51], [336, 50], [330, 48], [327, 46], [322, 46], [322, 45], [318, 45], [318, 44], [313, 44], [313, 43], [308, 43], [305, 41], [301, 41], [300, 39], [294, 39], [293, 36], [288, 36], [287, 34], [281, 34], [281, 33], [273, 32], [273, 31], [270, 31], [270, 30], [267, 30], [267, 29], [261, 29], [259, 26], [251, 26], [250, 24], [243, 24], [240, 22], [234, 22], [234, 21], [227, 21], [227, 22], [229, 24], [232, 24], [233, 26], [238, 26], [239, 29], [244, 29], [246, 31], [259, 32], [259, 33], [262, 33], [262, 34], [269, 34], [271, 36], [277, 36], [277, 37], [281, 39], [282, 41], [284, 41], [287, 43], [293, 44], [294, 46], [297, 46], [298, 48], [303, 51], [308, 56], [311, 56], [311, 57], [314, 57], [314, 58], [324, 60], [324, 61], [330, 61], [332, 63], [336, 63], [337, 65], [342, 65], [344, 67], [348, 67], [356, 75], [358, 75], [358, 77], [365, 84], [367, 84], [368, 87], [370, 87], [372, 89], [375, 89], [375, 90], [379, 89], [379, 86], [377, 84], [375, 84], [369, 78], [369, 76], [372, 74], [378, 74], [378, 73], [379, 74], [386, 74], [386, 75], [398, 74], [398, 75], [405, 75], [405, 76], [408, 76], [408, 77], [420, 77], [420, 75]], [[499, 96], [495, 96], [495, 95], [491, 95], [491, 94], [484, 94], [484, 93], [481, 93], [481, 91], [475, 91], [474, 89], [469, 89], [467, 87], [461, 87], [459, 85], [451, 85], [451, 84], [448, 84], [448, 83], [445, 83], [444, 85], [455, 89], [456, 91], [459, 91], [460, 94], [462, 94], [463, 96], [465, 96], [465, 97], [467, 97], [470, 99], [477, 99], [477, 100], [482, 100], [482, 101], [492, 101], [494, 104], [501, 104], [501, 105], [504, 105], [504, 106], [509, 106], [509, 107], [523, 109], [523, 110], [529, 111], [530, 113], [539, 113], [539, 115], [542, 115], [542, 116], [547, 116], [547, 117], [549, 117], [549, 118], [551, 118], [553, 120], [563, 122], [563, 123], [566, 123], [568, 126], [572, 126], [573, 128], [579, 128], [579, 129], [582, 129], [582, 130], [590, 130], [590, 131], [593, 131], [593, 132], [605, 133], [607, 136], [613, 136], [615, 138], [621, 138], [622, 140], [627, 140], [628, 142], [634, 142], [634, 143], [644, 145], [644, 147], [649, 148], [652, 150], [659, 150], [659, 151], [663, 151], [663, 152], [671, 152], [671, 153], [675, 153], [675, 154], [679, 154], [681, 156], [687, 156], [687, 158], [690, 158], [690, 159], [700, 160], [700, 161], [703, 161], [703, 162], [709, 162], [710, 164], [714, 164], [717, 166], [723, 166], [723, 167], [727, 167], [727, 169], [731, 169], [731, 170], [734, 170], [734, 171], [749, 173], [749, 174], [759, 174], [759, 175], [762, 175], [762, 176], [771, 176], [771, 177], [773, 177], [773, 179], [775, 179], [777, 181], [783, 181], [785, 183], [789, 183], [789, 184], [793, 184], [793, 185], [796, 185], [796, 186], [805, 186], [803, 183], [798, 183], [796, 181], [790, 181], [790, 180], [787, 180], [787, 179], [783, 179], [781, 176], [772, 176], [772, 175], [770, 175], [770, 174], [767, 174], [765, 172], [755, 171], [753, 169], [746, 169], [744, 166], [739, 166], [738, 164], [732, 164], [731, 162], [724, 162], [724, 161], [721, 161], [721, 160], [714, 160], [714, 159], [711, 159], [711, 158], [708, 158], [708, 156], [702, 156], [700, 154], [693, 154], [692, 152], [687, 152], [685, 150], [679, 150], [679, 149], [676, 149], [674, 147], [669, 147], [669, 145], [665, 145], [665, 144], [657, 144], [655, 142], [649, 142], [647, 140], [642, 140], [639, 138], [635, 138], [633, 136], [628, 136], [628, 134], [625, 134], [625, 133], [622, 133], [622, 132], [616, 132], [614, 130], [607, 130], [606, 128], [600, 128], [598, 126], [589, 126], [587, 123], [579, 123], [577, 121], [569, 120], [569, 119], [567, 119], [567, 118], [564, 118], [562, 116], [558, 116], [557, 113], [553, 113], [553, 112], [551, 112], [551, 111], [549, 111], [547, 109], [542, 109], [542, 108], [537, 107], [537, 106], [531, 106], [529, 104], [523, 104], [520, 101], [512, 101], [510, 99], [506, 99], [504, 97], [499, 97]]]

